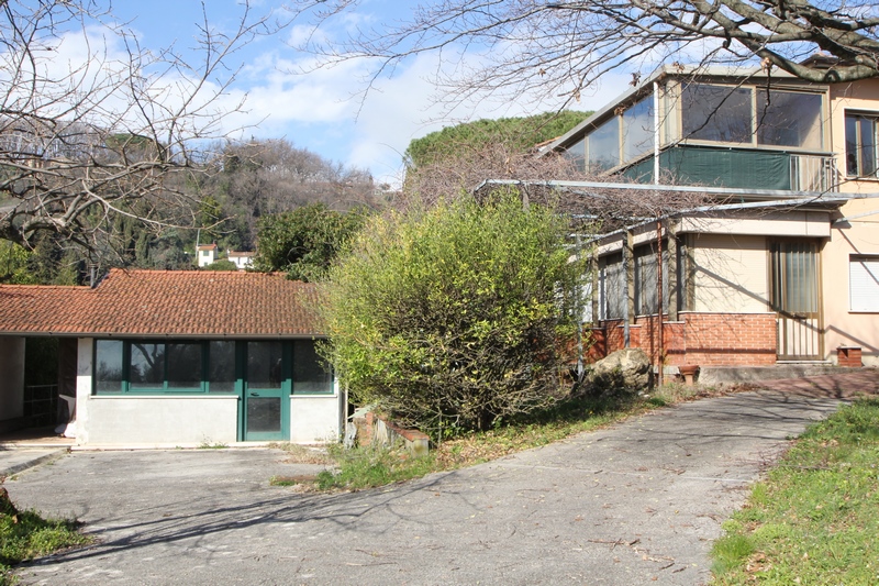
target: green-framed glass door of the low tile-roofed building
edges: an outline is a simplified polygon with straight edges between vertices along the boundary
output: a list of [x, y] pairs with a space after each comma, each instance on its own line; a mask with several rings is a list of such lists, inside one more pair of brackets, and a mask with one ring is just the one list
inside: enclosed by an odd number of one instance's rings
[[247, 342], [244, 398], [244, 441], [289, 439], [290, 375], [285, 344]]

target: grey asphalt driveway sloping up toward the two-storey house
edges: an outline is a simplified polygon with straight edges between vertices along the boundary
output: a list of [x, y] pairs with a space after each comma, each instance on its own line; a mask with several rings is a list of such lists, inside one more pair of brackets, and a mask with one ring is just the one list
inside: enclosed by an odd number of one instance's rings
[[838, 406], [847, 387], [834, 385], [704, 399], [354, 494], [269, 486], [272, 475], [304, 472], [272, 450], [75, 452], [7, 488], [20, 506], [76, 516], [99, 543], [20, 575], [24, 584], [701, 584], [721, 522], [789, 438]]

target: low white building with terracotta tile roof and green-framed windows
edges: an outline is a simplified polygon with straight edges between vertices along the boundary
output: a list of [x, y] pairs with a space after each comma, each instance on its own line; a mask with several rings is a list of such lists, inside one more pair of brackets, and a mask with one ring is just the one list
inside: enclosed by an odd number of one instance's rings
[[3, 418], [21, 411], [23, 339], [54, 336], [80, 445], [334, 441], [346, 400], [318, 356], [313, 302], [312, 285], [244, 272], [0, 286]]

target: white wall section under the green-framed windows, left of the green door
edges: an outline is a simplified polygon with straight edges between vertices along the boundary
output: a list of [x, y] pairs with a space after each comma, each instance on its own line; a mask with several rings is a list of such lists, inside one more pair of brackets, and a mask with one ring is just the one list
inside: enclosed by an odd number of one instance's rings
[[88, 398], [88, 444], [198, 445], [233, 443], [237, 397]]

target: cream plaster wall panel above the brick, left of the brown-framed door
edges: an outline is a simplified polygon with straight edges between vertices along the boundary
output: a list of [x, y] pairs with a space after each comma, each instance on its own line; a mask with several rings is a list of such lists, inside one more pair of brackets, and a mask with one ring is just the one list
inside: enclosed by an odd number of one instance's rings
[[769, 311], [766, 239], [698, 234], [691, 239], [693, 311]]

